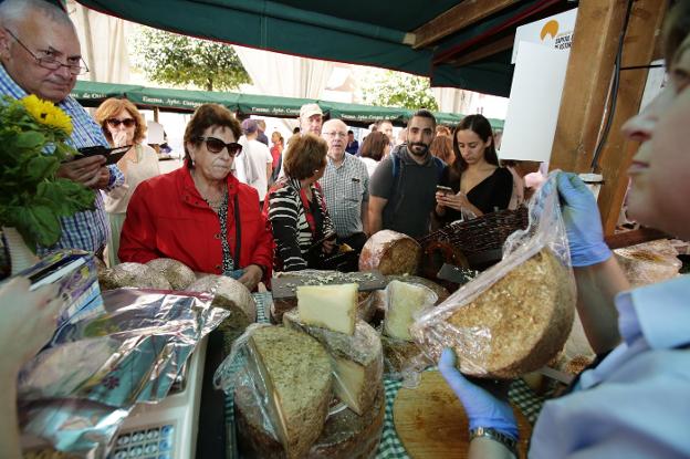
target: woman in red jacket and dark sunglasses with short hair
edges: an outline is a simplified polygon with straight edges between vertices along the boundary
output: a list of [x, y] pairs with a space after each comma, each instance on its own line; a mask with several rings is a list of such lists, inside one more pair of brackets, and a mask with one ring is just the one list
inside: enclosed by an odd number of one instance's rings
[[119, 259], [178, 260], [253, 290], [268, 281], [273, 238], [257, 191], [232, 174], [241, 128], [222, 105], [205, 104], [185, 131], [185, 166], [140, 184], [127, 208]]

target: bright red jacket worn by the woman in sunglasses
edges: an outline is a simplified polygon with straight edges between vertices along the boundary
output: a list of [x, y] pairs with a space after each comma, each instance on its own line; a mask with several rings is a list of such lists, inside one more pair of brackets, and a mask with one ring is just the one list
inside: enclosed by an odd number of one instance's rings
[[[273, 237], [259, 210], [252, 187], [228, 175], [228, 242], [236, 254], [234, 196], [240, 208], [240, 260], [236, 268], [260, 264], [271, 278]], [[218, 215], [201, 198], [187, 166], [153, 177], [136, 188], [119, 238], [119, 260], [146, 263], [172, 258], [194, 271], [221, 274], [222, 247]], [[238, 267], [239, 264], [239, 267]]]

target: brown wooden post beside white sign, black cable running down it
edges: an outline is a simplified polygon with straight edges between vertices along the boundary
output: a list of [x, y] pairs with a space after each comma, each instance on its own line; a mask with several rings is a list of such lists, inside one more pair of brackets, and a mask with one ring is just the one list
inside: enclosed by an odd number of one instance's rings
[[[552, 169], [590, 171], [608, 115], [606, 106], [626, 9], [627, 0], [579, 2], [551, 154]], [[623, 67], [649, 64], [666, 9], [666, 1], [635, 1], [624, 42]], [[620, 126], [637, 113], [646, 80], [646, 70], [620, 73], [616, 112], [596, 170], [604, 176], [598, 205], [606, 234], [615, 229], [634, 152], [620, 135]]]

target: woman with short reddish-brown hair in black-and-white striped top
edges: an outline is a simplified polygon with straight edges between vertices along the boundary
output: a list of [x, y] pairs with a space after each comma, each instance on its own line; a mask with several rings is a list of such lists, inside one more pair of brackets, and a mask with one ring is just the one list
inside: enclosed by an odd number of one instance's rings
[[275, 240], [274, 269], [317, 269], [335, 247], [335, 229], [316, 182], [326, 167], [328, 147], [312, 134], [295, 136], [285, 158], [285, 176], [269, 190], [264, 212]]

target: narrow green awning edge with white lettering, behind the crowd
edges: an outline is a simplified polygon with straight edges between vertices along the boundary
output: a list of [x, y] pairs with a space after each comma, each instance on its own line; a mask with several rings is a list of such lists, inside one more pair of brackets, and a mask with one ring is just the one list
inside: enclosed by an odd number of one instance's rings
[[[242, 115], [290, 118], [296, 118], [300, 115], [302, 105], [315, 103], [321, 106], [327, 117], [343, 119], [353, 126], [367, 126], [379, 119], [390, 119], [393, 124], [401, 126], [412, 115], [411, 109], [397, 107], [228, 92], [167, 90], [88, 81], [77, 81], [74, 90], [72, 90], [72, 96], [81, 104], [92, 107], [98, 106], [108, 97], [125, 97], [136, 105], [159, 107], [164, 111], [191, 112], [201, 104], [217, 103]], [[463, 115], [452, 113], [435, 113], [435, 115], [438, 123], [450, 126], [458, 124], [463, 118]], [[503, 128], [502, 119], [489, 121], [494, 129]]]

